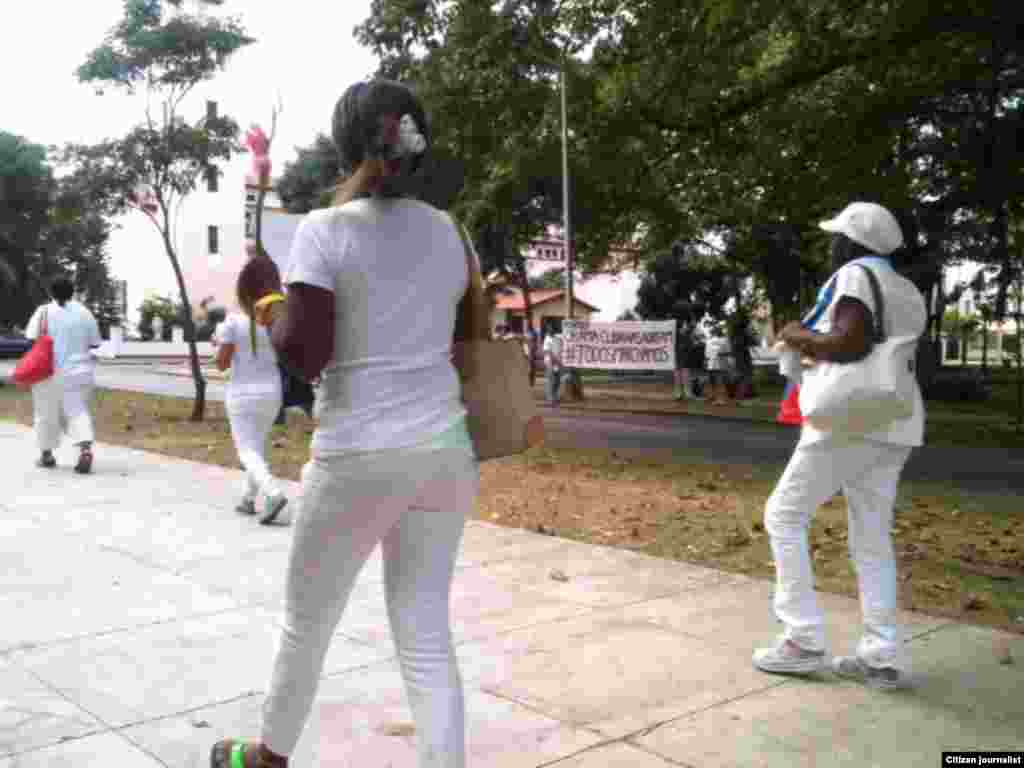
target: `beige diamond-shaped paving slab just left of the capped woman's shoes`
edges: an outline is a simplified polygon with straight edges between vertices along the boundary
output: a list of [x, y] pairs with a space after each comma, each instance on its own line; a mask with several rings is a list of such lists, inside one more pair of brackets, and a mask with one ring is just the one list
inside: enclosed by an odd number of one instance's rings
[[467, 644], [460, 658], [474, 650], [487, 657], [482, 690], [611, 738], [778, 684], [743, 651], [617, 611]]

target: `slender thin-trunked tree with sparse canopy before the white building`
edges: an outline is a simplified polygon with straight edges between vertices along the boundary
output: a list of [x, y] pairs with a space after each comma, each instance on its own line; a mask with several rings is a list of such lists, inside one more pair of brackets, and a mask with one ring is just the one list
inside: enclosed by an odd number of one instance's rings
[[[69, 155], [92, 168], [108, 190], [115, 211], [128, 207], [135, 190], [152, 190], [156, 211], [146, 212], [160, 233], [171, 262], [180, 296], [179, 322], [189, 343], [196, 400], [193, 418], [203, 419], [206, 381], [196, 350], [191, 304], [178, 253], [174, 247], [175, 203], [191, 193], [200, 178], [219, 173], [217, 163], [241, 147], [233, 120], [207, 115], [189, 122], [181, 114], [182, 100], [194, 88], [223, 70], [229, 58], [254, 41], [236, 18], [180, 12], [181, 0], [125, 0], [124, 15], [102, 44], [78, 68], [79, 81], [97, 93], [108, 87], [133, 92], [142, 86], [150, 102], [144, 121], [122, 137], [95, 146], [70, 146]], [[207, 5], [219, 6], [214, 0]]]

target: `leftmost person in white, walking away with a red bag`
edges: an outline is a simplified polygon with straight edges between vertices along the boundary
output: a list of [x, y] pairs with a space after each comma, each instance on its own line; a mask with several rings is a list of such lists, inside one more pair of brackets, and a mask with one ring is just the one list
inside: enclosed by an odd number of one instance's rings
[[102, 343], [99, 326], [92, 312], [72, 301], [74, 284], [58, 278], [50, 287], [53, 301], [43, 304], [29, 321], [29, 339], [44, 330], [53, 339], [53, 376], [32, 387], [33, 423], [42, 455], [37, 465], [52, 469], [57, 465], [53, 452], [67, 431], [79, 449], [75, 471], [92, 471], [92, 442], [95, 439], [89, 407], [96, 385], [96, 358], [92, 350]]

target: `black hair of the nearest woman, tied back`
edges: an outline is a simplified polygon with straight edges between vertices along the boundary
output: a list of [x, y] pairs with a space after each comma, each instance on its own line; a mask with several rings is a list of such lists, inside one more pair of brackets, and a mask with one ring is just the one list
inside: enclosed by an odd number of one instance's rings
[[[380, 136], [380, 118], [385, 115], [412, 117], [429, 151], [431, 141], [427, 114], [411, 88], [384, 79], [355, 83], [338, 99], [331, 119], [331, 136], [338, 148], [341, 168], [349, 176], [365, 160], [385, 159], [387, 147]], [[400, 195], [401, 177], [416, 173], [424, 157], [425, 154], [403, 159], [398, 178], [393, 183], [385, 179], [381, 194]]]

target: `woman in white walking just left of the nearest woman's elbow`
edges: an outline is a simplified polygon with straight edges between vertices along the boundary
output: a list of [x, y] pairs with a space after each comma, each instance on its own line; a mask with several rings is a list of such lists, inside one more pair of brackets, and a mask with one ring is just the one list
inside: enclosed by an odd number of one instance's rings
[[249, 261], [243, 267], [236, 287], [244, 311], [228, 314], [217, 326], [214, 339], [217, 369], [231, 371], [224, 404], [231, 439], [246, 470], [246, 487], [236, 509], [248, 515], [258, 512], [259, 521], [266, 525], [286, 521], [288, 499], [266, 458], [270, 430], [281, 412], [281, 371], [266, 329], [254, 326], [251, 319], [255, 301], [249, 279], [252, 264]]

